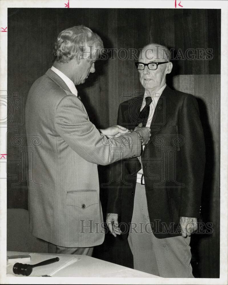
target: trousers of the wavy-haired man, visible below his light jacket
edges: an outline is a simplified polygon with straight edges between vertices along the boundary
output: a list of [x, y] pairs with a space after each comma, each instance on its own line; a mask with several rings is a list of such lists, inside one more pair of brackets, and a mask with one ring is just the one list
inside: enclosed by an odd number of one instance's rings
[[48, 253], [54, 254], [79, 254], [92, 256], [93, 247], [60, 247], [58, 245], [53, 245], [48, 243]]

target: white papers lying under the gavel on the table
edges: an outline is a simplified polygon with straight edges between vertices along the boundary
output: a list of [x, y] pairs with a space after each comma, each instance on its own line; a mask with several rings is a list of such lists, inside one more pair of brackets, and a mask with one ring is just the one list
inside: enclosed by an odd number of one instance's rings
[[[80, 260], [80, 258], [77, 258], [75, 256], [64, 256], [64, 255], [45, 255], [42, 253], [30, 253], [31, 255], [31, 261], [27, 262], [27, 264], [36, 264], [39, 263], [41, 261], [47, 260], [47, 259], [51, 259], [51, 258], [55, 258], [55, 257], [59, 257], [59, 261], [48, 264], [48, 265], [44, 265], [44, 266], [38, 266], [38, 267], [34, 267], [33, 268], [33, 272], [29, 275], [30, 277], [39, 277], [42, 275], [53, 275], [54, 273], [56, 273], [57, 271], [62, 270], [63, 268], [65, 268], [66, 266], [68, 266], [69, 264], [72, 264], [73, 262], [76, 262], [78, 260]], [[13, 264], [11, 264], [11, 266], [7, 266], [7, 275], [9, 274], [14, 274], [13, 273]], [[23, 275], [17, 275], [15, 274], [14, 276], [23, 276]]]

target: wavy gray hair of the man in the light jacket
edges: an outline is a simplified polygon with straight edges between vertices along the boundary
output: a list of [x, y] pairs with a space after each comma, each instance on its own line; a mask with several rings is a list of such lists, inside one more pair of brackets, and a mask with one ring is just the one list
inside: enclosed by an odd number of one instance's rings
[[90, 47], [92, 59], [96, 59], [104, 48], [98, 34], [83, 25], [63, 30], [55, 42], [53, 62], [67, 63], [73, 58], [79, 58], [83, 56], [85, 46]]

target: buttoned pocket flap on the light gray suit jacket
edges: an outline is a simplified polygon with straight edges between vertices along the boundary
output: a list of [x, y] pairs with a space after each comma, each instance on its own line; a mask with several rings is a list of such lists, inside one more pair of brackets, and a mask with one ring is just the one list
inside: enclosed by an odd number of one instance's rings
[[96, 190], [69, 190], [66, 193], [66, 205], [76, 206], [82, 209], [98, 204]]

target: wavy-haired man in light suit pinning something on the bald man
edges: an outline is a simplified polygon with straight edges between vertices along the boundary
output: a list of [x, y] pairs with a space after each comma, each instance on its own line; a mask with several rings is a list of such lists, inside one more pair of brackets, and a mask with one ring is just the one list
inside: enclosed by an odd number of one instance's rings
[[141, 141], [150, 137], [149, 128], [99, 131], [89, 121], [75, 85], [95, 72], [102, 48], [100, 37], [84, 26], [60, 32], [53, 66], [28, 94], [26, 132], [28, 139], [40, 138], [29, 167], [41, 186], [29, 181], [30, 231], [49, 243], [49, 253], [92, 255], [104, 240], [97, 164], [140, 155]]

